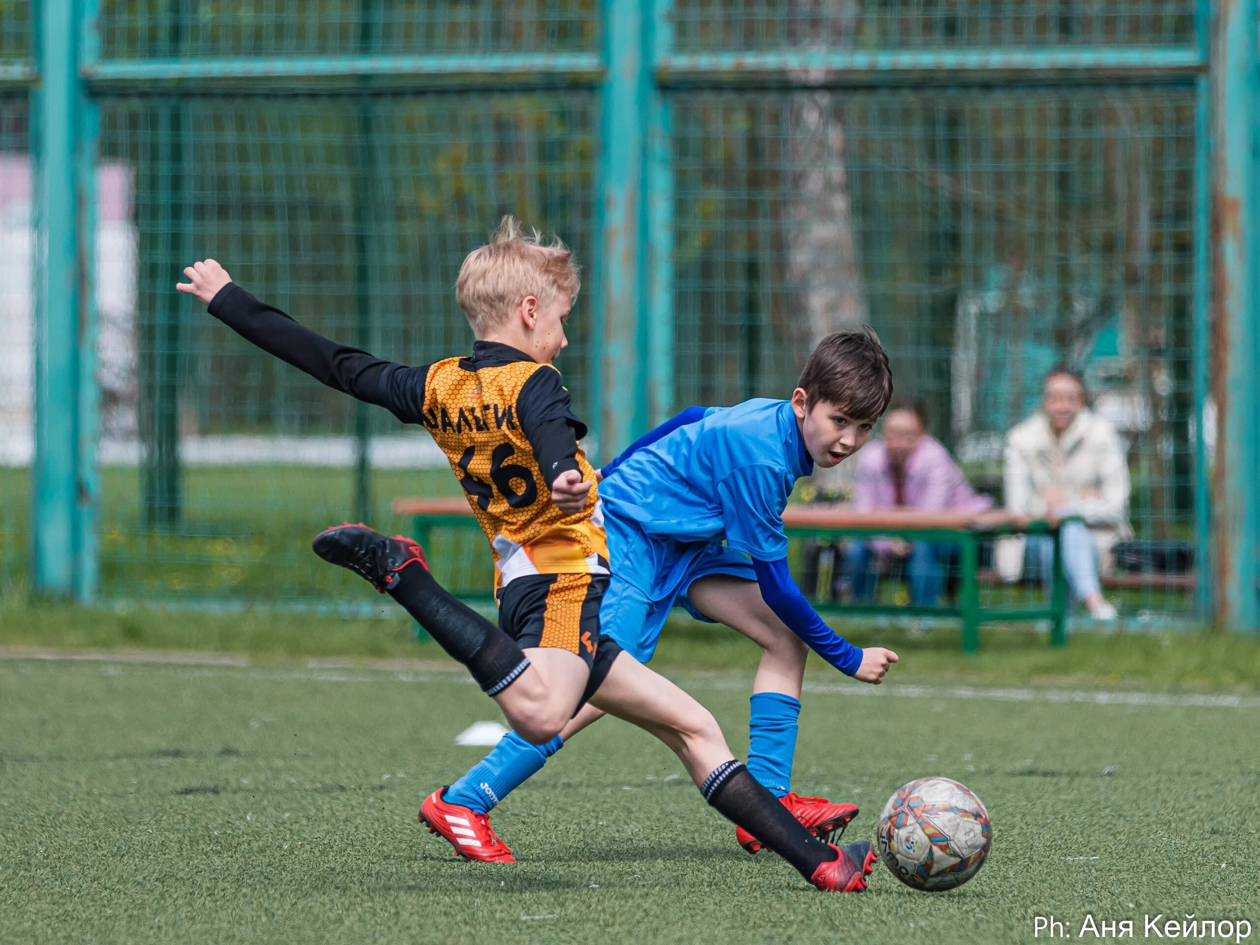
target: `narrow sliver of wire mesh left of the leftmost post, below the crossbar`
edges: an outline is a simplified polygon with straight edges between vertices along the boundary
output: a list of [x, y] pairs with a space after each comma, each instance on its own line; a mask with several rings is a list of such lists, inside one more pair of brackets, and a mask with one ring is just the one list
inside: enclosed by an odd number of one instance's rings
[[29, 132], [24, 97], [0, 97], [0, 596], [25, 583], [34, 343]]

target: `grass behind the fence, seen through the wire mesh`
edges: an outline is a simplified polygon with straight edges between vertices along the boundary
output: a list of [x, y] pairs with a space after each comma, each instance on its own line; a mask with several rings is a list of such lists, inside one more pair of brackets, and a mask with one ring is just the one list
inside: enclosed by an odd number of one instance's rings
[[[310, 552], [311, 538], [330, 524], [354, 518], [354, 471], [294, 465], [189, 467], [183, 470], [183, 512], [173, 525], [150, 527], [141, 505], [141, 471], [101, 470], [101, 587], [106, 601], [184, 602], [203, 607], [248, 604], [301, 605], [307, 609], [362, 606], [357, 577], [328, 567]], [[444, 466], [373, 470], [370, 514], [374, 527], [412, 530], [392, 503], [404, 496], [460, 496]], [[0, 596], [26, 591], [29, 478], [23, 469], [0, 469]], [[1159, 536], [1182, 537], [1182, 536]], [[793, 541], [798, 566], [801, 543]], [[476, 529], [433, 529], [428, 547], [435, 575], [457, 593], [488, 595], [493, 568], [485, 538]], [[796, 568], [798, 575], [800, 568]], [[902, 586], [885, 581], [882, 598], [892, 602]], [[1031, 602], [1043, 596], [1036, 585], [984, 586], [985, 604]], [[1184, 590], [1113, 592], [1124, 617], [1148, 629], [1152, 622], [1193, 621], [1194, 596]]]

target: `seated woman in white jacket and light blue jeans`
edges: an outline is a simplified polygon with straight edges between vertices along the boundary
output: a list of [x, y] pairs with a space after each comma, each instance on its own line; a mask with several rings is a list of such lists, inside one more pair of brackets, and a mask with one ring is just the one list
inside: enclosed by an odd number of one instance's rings
[[[1062, 530], [1063, 570], [1072, 593], [1096, 620], [1115, 620], [1102, 597], [1099, 566], [1110, 567], [1111, 546], [1129, 532], [1129, 467], [1115, 427], [1085, 406], [1085, 384], [1066, 368], [1046, 378], [1042, 410], [1007, 433], [1007, 508], [1021, 515], [1080, 515]], [[995, 567], [1005, 581], [1023, 575], [1024, 546], [1048, 578], [1048, 537], [998, 542]]]

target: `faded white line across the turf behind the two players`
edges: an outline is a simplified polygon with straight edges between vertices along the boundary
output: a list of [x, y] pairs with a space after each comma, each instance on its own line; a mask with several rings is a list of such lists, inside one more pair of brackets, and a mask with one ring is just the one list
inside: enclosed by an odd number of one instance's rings
[[[163, 667], [181, 670], [183, 675], [217, 677], [231, 675], [249, 679], [276, 682], [321, 682], [321, 683], [456, 683], [471, 684], [472, 680], [454, 663], [431, 660], [379, 660], [379, 662], [341, 662], [310, 660], [306, 667], [251, 667], [241, 656], [205, 653], [110, 653], [63, 650], [39, 650], [20, 646], [0, 646], [0, 662], [73, 662], [94, 665], [98, 672], [117, 675], [123, 667]], [[745, 689], [748, 679], [741, 674], [723, 675], [717, 673], [675, 674], [688, 689]], [[824, 683], [806, 680], [803, 687], [808, 693], [828, 696], [879, 696], [902, 699], [982, 699], [989, 702], [1029, 702], [1089, 706], [1171, 706], [1183, 708], [1260, 708], [1260, 696], [1200, 694], [1200, 693], [1150, 693], [1108, 689], [1038, 689], [1013, 687], [979, 685], [914, 685], [883, 684], [863, 685], [862, 683]]]

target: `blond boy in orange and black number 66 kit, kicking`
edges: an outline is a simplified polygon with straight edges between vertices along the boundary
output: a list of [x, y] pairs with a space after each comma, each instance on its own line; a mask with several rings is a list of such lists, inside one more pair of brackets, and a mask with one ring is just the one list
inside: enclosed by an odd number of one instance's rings
[[[471, 357], [421, 367], [318, 335], [234, 285], [213, 260], [184, 272], [189, 281], [178, 289], [247, 340], [432, 433], [490, 541], [499, 625], [438, 586], [410, 539], [340, 525], [316, 537], [320, 557], [389, 593], [527, 741], [551, 742], [590, 701], [664, 741], [711, 805], [815, 887], [866, 888], [874, 863], [868, 842], [840, 849], [814, 837], [735, 760], [707, 709], [600, 635], [609, 567], [595, 471], [578, 446], [586, 427], [551, 365], [568, 344], [564, 323], [580, 286], [567, 248], [527, 237], [505, 218], [456, 282], [478, 339]], [[435, 794], [421, 816], [456, 850], [496, 843], [488, 823], [445, 816]]]

